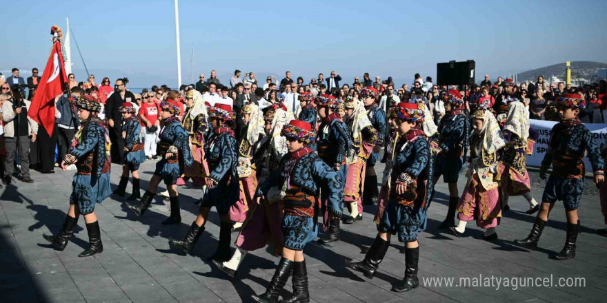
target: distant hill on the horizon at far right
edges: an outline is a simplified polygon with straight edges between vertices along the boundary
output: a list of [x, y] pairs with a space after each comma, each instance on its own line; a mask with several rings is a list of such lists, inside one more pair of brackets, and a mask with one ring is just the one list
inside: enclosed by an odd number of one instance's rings
[[[593, 62], [593, 61], [572, 61], [571, 62], [571, 78], [583, 78], [593, 81], [597, 78], [597, 71], [599, 68], [606, 68], [607, 63]], [[565, 79], [566, 64], [558, 63], [546, 67], [536, 68], [535, 70], [528, 70], [526, 72], [519, 72], [517, 74], [518, 81], [536, 81], [538, 76], [544, 76], [547, 80], [550, 76], [556, 76], [559, 79]], [[481, 79], [482, 80], [482, 79]]]

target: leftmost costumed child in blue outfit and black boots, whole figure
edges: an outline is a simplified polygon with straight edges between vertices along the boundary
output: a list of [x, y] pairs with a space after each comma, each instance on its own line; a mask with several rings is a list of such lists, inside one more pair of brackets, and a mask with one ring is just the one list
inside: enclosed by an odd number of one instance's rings
[[99, 221], [94, 213], [95, 204], [112, 194], [110, 189], [110, 137], [106, 123], [97, 117], [101, 104], [91, 96], [77, 97], [76, 107], [82, 121], [80, 130], [72, 142], [69, 154], [63, 157], [61, 167], [76, 165], [78, 171], [72, 181], [70, 208], [63, 227], [57, 236], [43, 235], [54, 249], [63, 251], [74, 235], [74, 228], [82, 214], [86, 222], [89, 248], [79, 257], [88, 257], [103, 251]]

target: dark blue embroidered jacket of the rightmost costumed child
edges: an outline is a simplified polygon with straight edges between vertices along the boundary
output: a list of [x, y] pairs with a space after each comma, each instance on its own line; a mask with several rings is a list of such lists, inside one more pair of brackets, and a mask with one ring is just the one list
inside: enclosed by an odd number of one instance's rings
[[584, 152], [596, 173], [604, 168], [604, 160], [593, 134], [579, 120], [561, 121], [552, 130], [548, 151], [541, 161], [542, 167], [553, 165], [553, 175], [561, 178], [583, 178]]

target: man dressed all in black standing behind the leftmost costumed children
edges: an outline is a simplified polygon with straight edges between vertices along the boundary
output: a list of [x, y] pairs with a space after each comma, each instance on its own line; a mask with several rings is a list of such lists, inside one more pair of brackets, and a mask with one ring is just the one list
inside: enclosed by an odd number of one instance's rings
[[124, 139], [122, 138], [122, 114], [119, 111], [122, 103], [135, 103], [135, 95], [126, 90], [126, 79], [117, 79], [114, 93], [106, 101], [106, 119], [110, 124], [108, 133], [112, 142], [112, 162], [121, 164], [124, 153]]

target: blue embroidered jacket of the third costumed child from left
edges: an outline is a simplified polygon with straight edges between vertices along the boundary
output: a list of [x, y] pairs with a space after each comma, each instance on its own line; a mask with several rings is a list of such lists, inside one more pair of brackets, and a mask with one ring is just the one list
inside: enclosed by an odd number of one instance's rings
[[[168, 118], [164, 128], [160, 132], [160, 148], [163, 152], [172, 152], [179, 157], [179, 174], [183, 174], [186, 167], [194, 163], [192, 151], [190, 150], [190, 136], [188, 131], [181, 126], [177, 118]], [[166, 147], [166, 148], [165, 148]], [[168, 164], [172, 164], [168, 161]]]

